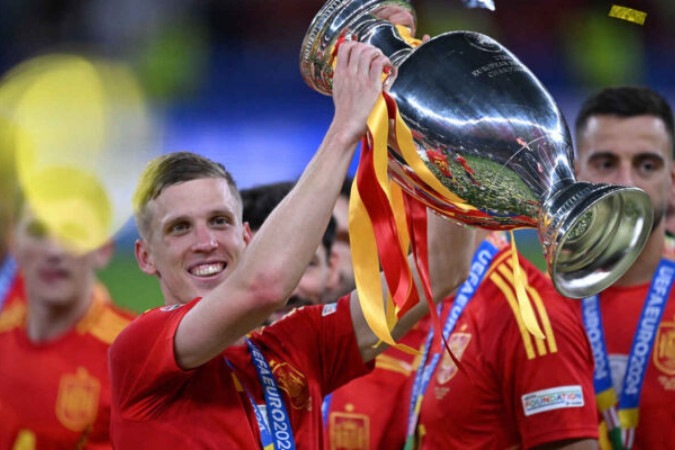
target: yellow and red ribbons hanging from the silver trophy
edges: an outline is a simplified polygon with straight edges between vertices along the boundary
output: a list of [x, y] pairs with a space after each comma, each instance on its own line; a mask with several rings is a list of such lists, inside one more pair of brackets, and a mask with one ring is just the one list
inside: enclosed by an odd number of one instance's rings
[[[351, 190], [349, 234], [350, 241], [358, 243], [351, 248], [354, 278], [364, 317], [378, 339], [405, 352], [417, 353], [397, 344], [391, 335], [398, 318], [419, 302], [408, 253], [412, 253], [436, 335], [441, 336], [442, 327], [434, 307], [429, 279], [426, 207], [446, 216], [454, 212], [422, 204], [390, 179], [387, 171], [390, 120], [394, 124], [393, 136], [401, 156], [423, 182], [418, 188], [463, 213], [478, 211], [450, 191], [429, 170], [417, 152], [412, 133], [401, 118], [396, 102], [383, 92], [368, 118], [368, 133], [362, 141], [359, 167]], [[513, 254], [516, 255], [513, 242]], [[524, 323], [530, 333], [543, 339], [525, 292], [524, 274], [517, 256], [514, 256], [513, 266], [516, 295]], [[382, 285], [380, 270], [387, 289]], [[386, 295], [385, 302], [382, 301], [383, 295]], [[452, 352], [449, 353], [455, 359]], [[455, 362], [461, 368], [459, 362]]]

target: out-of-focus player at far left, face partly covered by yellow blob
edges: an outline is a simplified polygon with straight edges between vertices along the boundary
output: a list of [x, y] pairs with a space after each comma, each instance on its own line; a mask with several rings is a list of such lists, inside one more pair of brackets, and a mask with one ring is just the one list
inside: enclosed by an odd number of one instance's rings
[[0, 364], [0, 448], [112, 448], [108, 348], [132, 315], [95, 272], [114, 245], [76, 253], [30, 206], [19, 210], [12, 252], [23, 283], [0, 314], [0, 355], [11, 361]]

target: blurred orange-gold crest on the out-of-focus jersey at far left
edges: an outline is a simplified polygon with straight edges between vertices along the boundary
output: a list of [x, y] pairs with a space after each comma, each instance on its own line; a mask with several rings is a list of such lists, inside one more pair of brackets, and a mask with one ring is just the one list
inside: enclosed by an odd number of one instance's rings
[[96, 418], [101, 383], [87, 369], [78, 367], [74, 374], [65, 374], [59, 382], [56, 417], [72, 431], [82, 431]]

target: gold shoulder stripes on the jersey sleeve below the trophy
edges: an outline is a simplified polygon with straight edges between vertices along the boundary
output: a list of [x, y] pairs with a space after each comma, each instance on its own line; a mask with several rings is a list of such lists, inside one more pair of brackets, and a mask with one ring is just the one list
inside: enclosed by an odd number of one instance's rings
[[490, 270], [490, 280], [502, 292], [513, 311], [513, 316], [518, 324], [523, 346], [525, 347], [527, 359], [534, 359], [537, 356], [544, 356], [548, 353], [557, 353], [558, 346], [556, 344], [555, 335], [553, 333], [553, 328], [551, 327], [546, 307], [541, 300], [539, 292], [530, 286], [529, 283], [525, 285], [525, 290], [528, 297], [533, 300], [536, 316], [538, 316], [539, 323], [543, 325], [546, 339], [539, 339], [532, 336], [525, 326], [516, 297], [513, 268], [510, 267], [507, 259], [510, 255], [511, 251], [509, 250], [495, 260]]

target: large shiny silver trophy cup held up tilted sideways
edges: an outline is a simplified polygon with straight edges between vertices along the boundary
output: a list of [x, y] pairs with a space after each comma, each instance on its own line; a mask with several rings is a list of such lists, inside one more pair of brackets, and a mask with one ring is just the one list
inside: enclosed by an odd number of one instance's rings
[[534, 227], [563, 295], [595, 294], [620, 278], [644, 247], [653, 212], [637, 188], [577, 182], [565, 119], [542, 84], [488, 36], [447, 32], [411, 46], [374, 11], [403, 0], [330, 0], [305, 36], [300, 69], [330, 95], [332, 54], [349, 36], [380, 48], [396, 68], [389, 95], [417, 154], [471, 208], [437, 194], [396, 150], [388, 172], [442, 215], [487, 229]]

